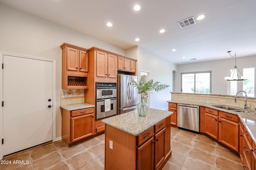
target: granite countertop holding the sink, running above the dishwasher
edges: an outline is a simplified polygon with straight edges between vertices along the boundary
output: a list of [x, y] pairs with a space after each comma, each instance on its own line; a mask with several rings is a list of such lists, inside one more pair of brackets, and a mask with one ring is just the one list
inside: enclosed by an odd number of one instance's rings
[[[169, 100], [167, 102], [170, 103], [177, 103], [177, 104], [191, 104], [191, 105], [196, 105], [196, 106], [204, 106], [204, 107], [209, 107], [212, 109], [216, 109], [219, 111], [224, 111], [226, 113], [231, 113], [233, 115], [238, 115], [238, 117], [241, 119], [242, 123], [248, 130], [248, 133], [251, 135], [252, 140], [254, 143], [256, 143], [256, 112], [254, 109], [247, 109], [248, 111], [252, 111], [252, 113], [241, 113], [241, 112], [235, 112], [235, 111], [230, 111], [226, 109], [221, 109], [218, 107], [214, 106], [228, 106], [228, 105], [222, 105], [222, 104], [212, 104], [212, 103], [206, 103], [206, 102], [192, 102], [192, 101], [184, 101], [184, 100]], [[231, 106], [234, 107], [234, 106]], [[239, 109], [244, 110], [242, 107], [236, 107]]]

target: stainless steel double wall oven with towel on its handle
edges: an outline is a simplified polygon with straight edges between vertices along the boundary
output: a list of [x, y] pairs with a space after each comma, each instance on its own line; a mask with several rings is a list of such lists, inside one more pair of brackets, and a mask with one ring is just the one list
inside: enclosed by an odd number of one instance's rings
[[[110, 111], [105, 111], [105, 100], [110, 100]], [[116, 83], [96, 82], [96, 120], [116, 115]]]

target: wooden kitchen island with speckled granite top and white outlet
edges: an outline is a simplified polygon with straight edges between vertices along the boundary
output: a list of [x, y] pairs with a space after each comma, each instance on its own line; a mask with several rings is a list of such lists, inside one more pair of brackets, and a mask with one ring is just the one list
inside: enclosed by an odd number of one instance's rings
[[148, 108], [146, 117], [137, 110], [102, 120], [105, 128], [105, 170], [158, 170], [172, 155], [170, 115]]

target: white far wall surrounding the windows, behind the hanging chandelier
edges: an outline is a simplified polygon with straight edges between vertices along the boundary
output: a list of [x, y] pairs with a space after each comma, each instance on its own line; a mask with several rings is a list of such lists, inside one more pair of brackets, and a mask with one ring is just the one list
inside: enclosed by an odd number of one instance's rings
[[[228, 53], [227, 53], [227, 57], [229, 57]], [[180, 92], [180, 73], [181, 72], [212, 70], [212, 94], [227, 94], [227, 90], [226, 90], [227, 83], [226, 83], [226, 80], [224, 80], [224, 77], [227, 76], [227, 70], [233, 69], [234, 66], [235, 66], [234, 57], [230, 57], [230, 59], [224, 59], [224, 60], [178, 65], [178, 71], [177, 71], [178, 88], [176, 92]], [[237, 57], [236, 66], [240, 71], [242, 71], [243, 68], [256, 67], [256, 56]], [[256, 80], [256, 77], [255, 77], [255, 80]]]

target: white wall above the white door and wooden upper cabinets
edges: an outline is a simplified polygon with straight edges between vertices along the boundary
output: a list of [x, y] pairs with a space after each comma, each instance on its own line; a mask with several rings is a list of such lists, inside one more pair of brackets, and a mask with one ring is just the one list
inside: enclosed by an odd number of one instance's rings
[[[0, 4], [0, 51], [56, 60], [56, 137], [61, 137], [60, 89], [62, 43], [99, 47], [120, 55], [124, 49]], [[78, 25], [79, 26], [79, 25]]]

